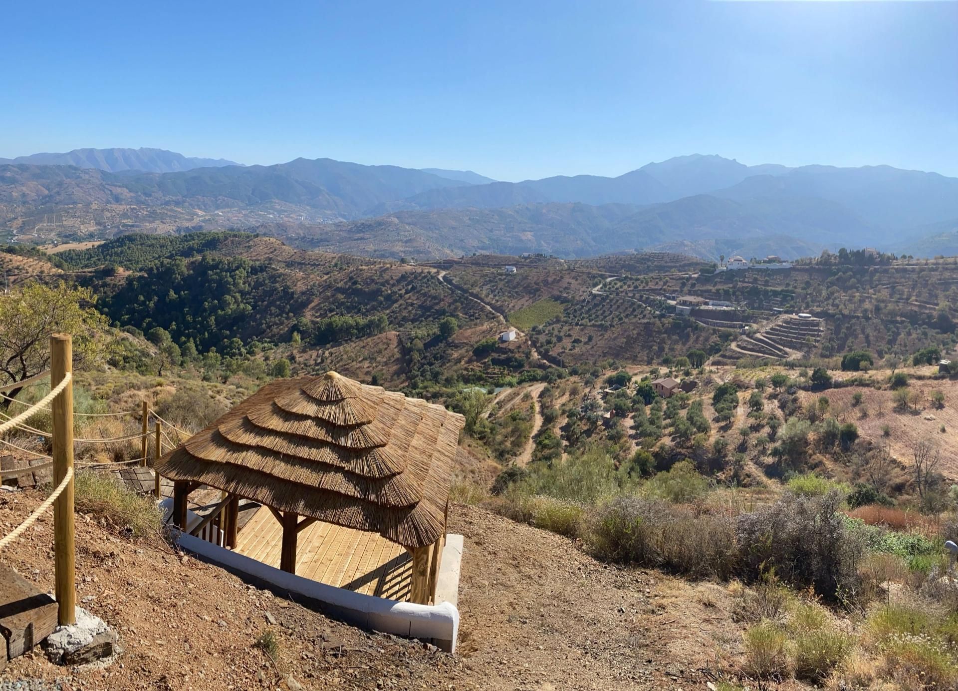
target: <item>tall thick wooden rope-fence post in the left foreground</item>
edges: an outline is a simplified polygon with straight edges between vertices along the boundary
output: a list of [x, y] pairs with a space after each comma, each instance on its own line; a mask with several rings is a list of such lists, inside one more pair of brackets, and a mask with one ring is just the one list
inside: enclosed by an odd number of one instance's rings
[[[69, 334], [50, 336], [50, 385], [57, 386], [73, 373], [73, 342]], [[54, 483], [59, 486], [73, 468], [73, 381], [53, 400]], [[77, 623], [76, 554], [74, 552], [74, 481], [54, 503], [54, 565], [56, 569], [57, 622]]]

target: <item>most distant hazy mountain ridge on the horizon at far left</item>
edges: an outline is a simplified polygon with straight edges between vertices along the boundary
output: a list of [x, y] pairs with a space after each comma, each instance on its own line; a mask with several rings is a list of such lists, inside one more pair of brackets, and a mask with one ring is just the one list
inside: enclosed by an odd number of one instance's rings
[[174, 173], [194, 168], [239, 166], [224, 158], [197, 158], [164, 149], [75, 149], [65, 153], [34, 153], [16, 158], [0, 158], [0, 164], [34, 164], [42, 166], [76, 166], [95, 168], [106, 173], [142, 171]]

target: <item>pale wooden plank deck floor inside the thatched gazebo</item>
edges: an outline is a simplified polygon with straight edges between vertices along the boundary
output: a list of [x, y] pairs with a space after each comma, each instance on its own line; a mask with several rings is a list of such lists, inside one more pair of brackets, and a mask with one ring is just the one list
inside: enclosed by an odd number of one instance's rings
[[[262, 507], [240, 528], [236, 551], [279, 568], [282, 541], [283, 526], [273, 512]], [[404, 547], [376, 533], [317, 521], [299, 534], [296, 575], [406, 602], [412, 582], [412, 559]]]

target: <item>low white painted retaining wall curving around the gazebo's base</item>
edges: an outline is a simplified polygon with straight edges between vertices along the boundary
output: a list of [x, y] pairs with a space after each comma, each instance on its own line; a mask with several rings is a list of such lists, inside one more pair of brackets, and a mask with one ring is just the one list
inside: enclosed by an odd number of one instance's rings
[[[164, 503], [166, 502], [161, 502], [161, 506]], [[192, 514], [193, 512], [187, 513]], [[188, 516], [187, 522], [189, 523], [191, 520], [192, 517]], [[453, 537], [458, 536], [449, 536], [449, 542], [452, 542], [451, 538]], [[422, 638], [422, 640], [433, 643], [441, 650], [445, 650], [446, 653], [456, 652], [456, 639], [459, 635], [459, 610], [448, 602], [439, 605], [414, 605], [413, 603], [387, 600], [374, 595], [363, 595], [342, 587], [329, 586], [303, 576], [287, 573], [275, 566], [263, 564], [233, 550], [194, 538], [194, 536], [186, 533], [180, 533], [176, 541], [183, 549], [193, 552], [206, 561], [247, 574], [276, 587], [280, 591], [295, 592], [316, 600], [324, 605], [324, 613], [330, 613], [354, 626], [382, 633], [395, 633], [410, 638]], [[449, 548], [448, 542], [446, 548]], [[453, 547], [453, 549], [456, 548], [458, 548], [461, 557], [461, 541]], [[458, 562], [456, 567], [458, 568]], [[458, 590], [458, 579], [456, 587]]]

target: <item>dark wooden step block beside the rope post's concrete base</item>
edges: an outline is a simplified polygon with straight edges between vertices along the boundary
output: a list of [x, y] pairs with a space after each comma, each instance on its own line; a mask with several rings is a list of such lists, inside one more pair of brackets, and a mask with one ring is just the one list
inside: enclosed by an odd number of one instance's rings
[[0, 633], [6, 639], [7, 659], [21, 656], [57, 628], [57, 601], [0, 564]]

